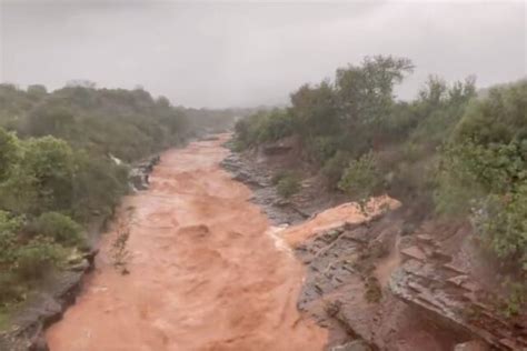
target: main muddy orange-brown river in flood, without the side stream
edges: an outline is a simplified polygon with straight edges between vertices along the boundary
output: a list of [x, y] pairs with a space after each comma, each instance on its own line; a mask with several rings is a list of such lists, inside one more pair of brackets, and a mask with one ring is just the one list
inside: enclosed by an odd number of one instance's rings
[[126, 199], [130, 274], [113, 269], [109, 233], [84, 292], [47, 332], [51, 351], [322, 350], [326, 330], [296, 308], [301, 264], [219, 167], [226, 138], [166, 152], [150, 189]]

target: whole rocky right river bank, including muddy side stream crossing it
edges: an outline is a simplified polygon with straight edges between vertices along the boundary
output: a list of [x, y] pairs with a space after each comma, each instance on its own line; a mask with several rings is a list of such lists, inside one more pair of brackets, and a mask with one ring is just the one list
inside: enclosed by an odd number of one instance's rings
[[[371, 200], [365, 217], [325, 188], [288, 140], [232, 153], [223, 164], [253, 189], [275, 235], [305, 264], [298, 308], [327, 328], [328, 350], [527, 347], [525, 314], [504, 315], [496, 267], [467, 221], [427, 217], [419, 202], [394, 207], [389, 198]], [[287, 200], [271, 182], [282, 170], [302, 174]]]

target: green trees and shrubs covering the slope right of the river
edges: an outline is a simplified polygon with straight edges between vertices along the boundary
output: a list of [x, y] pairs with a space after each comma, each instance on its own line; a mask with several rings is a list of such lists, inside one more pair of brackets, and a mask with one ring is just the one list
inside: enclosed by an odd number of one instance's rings
[[[330, 189], [361, 200], [378, 192], [422, 215], [469, 218], [483, 243], [527, 272], [527, 81], [476, 93], [475, 79], [430, 77], [415, 100], [394, 99], [407, 59], [367, 58], [332, 81], [302, 86], [291, 107], [236, 128], [242, 148], [284, 136], [301, 140], [306, 162]], [[523, 272], [523, 273], [521, 273]]]

